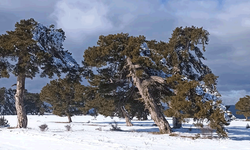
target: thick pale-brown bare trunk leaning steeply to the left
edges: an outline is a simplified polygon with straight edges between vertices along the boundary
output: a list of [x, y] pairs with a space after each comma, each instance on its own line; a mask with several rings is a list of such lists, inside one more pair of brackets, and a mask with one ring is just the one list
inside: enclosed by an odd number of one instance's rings
[[[136, 66], [132, 64], [131, 59], [127, 58], [127, 64], [130, 69], [130, 75], [133, 78], [133, 82], [139, 90], [139, 93], [144, 101], [146, 109], [149, 110], [151, 118], [154, 120], [155, 124], [159, 127], [160, 133], [171, 133], [171, 127], [162, 113], [160, 105], [157, 104], [153, 96], [149, 92], [148, 84], [150, 80], [141, 81], [139, 77], [136, 76]], [[160, 80], [160, 77], [155, 77]], [[156, 80], [157, 80], [156, 79]]]

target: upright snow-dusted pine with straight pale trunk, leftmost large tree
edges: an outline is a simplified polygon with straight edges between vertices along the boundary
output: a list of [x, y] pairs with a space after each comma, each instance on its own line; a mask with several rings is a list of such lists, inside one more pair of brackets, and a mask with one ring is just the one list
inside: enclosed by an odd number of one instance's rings
[[14, 31], [0, 35], [0, 77], [17, 77], [15, 105], [18, 128], [27, 127], [24, 108], [25, 79], [34, 78], [40, 71], [41, 77], [52, 78], [62, 72], [74, 76], [78, 64], [71, 53], [63, 49], [66, 36], [62, 29], [55, 29], [36, 22], [33, 18], [15, 24]]

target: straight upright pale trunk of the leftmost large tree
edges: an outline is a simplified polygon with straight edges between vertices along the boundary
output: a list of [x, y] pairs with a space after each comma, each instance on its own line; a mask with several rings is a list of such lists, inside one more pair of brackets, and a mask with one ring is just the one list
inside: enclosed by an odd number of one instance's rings
[[20, 74], [17, 76], [16, 86], [17, 128], [27, 128], [28, 118], [24, 107], [25, 75]]

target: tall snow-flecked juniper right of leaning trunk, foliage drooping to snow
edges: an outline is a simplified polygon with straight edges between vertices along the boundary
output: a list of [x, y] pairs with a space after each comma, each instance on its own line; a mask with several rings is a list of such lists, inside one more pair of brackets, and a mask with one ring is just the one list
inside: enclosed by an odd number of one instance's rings
[[[174, 91], [173, 96], [163, 100], [170, 108], [165, 113], [181, 120], [193, 117], [196, 121], [203, 121], [206, 118], [210, 127], [226, 136], [223, 126], [227, 121], [223, 119], [224, 110], [216, 89], [218, 76], [203, 64], [205, 57], [199, 48], [202, 45], [205, 52], [208, 35], [206, 30], [195, 27], [180, 27], [173, 31], [166, 44], [168, 51], [163, 53], [165, 65], [172, 66], [172, 77], [167, 78], [167, 83]], [[152, 43], [153, 47], [159, 47], [158, 44]]]

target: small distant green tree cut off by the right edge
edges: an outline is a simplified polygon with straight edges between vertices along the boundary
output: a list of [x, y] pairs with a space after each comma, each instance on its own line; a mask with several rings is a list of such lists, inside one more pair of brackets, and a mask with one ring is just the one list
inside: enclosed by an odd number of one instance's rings
[[248, 117], [250, 116], [250, 96], [246, 95], [245, 97], [240, 98], [240, 100], [235, 104], [235, 108], [239, 110], [236, 111], [236, 114], [244, 115], [246, 120], [248, 120]]

